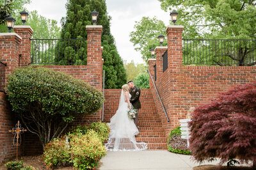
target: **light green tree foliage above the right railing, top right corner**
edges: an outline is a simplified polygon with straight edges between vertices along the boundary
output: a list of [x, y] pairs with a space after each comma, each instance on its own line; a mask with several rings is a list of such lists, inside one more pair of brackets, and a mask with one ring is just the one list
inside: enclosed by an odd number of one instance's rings
[[255, 0], [159, 0], [161, 8], [179, 12], [184, 38], [256, 38]]

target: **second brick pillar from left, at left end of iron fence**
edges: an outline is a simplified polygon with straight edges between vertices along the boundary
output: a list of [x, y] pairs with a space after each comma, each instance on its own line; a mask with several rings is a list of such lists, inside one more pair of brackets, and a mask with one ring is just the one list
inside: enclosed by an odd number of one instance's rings
[[33, 29], [30, 26], [14, 26], [14, 32], [17, 33], [21, 38], [20, 43], [20, 65], [28, 66], [30, 64], [30, 48], [31, 48], [31, 36]]

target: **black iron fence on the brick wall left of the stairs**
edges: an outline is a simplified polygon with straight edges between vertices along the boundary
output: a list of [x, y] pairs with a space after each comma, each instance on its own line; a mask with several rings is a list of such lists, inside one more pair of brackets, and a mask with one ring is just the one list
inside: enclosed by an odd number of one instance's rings
[[32, 65], [86, 65], [86, 39], [31, 39]]

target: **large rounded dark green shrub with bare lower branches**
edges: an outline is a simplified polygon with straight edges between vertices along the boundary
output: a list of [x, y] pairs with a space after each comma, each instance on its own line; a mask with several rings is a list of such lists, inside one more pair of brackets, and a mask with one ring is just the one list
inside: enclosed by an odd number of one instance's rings
[[98, 89], [42, 66], [17, 68], [6, 89], [13, 111], [39, 136], [43, 148], [67, 123], [99, 110], [104, 101]]

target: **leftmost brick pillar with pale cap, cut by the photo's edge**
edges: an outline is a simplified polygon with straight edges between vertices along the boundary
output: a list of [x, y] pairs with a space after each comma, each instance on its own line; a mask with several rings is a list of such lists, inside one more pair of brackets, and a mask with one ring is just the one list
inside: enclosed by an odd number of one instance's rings
[[17, 33], [0, 33], [0, 61], [6, 63], [5, 79], [19, 66], [21, 40]]

